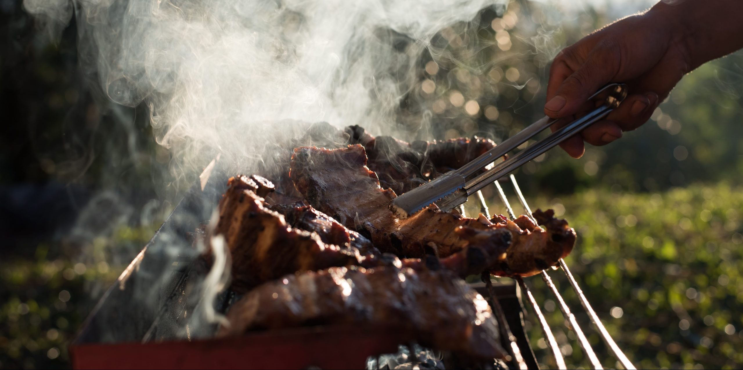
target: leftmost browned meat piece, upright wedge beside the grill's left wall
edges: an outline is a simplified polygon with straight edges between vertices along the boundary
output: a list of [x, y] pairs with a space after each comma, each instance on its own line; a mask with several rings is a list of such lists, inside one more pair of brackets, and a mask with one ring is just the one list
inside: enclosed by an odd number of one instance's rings
[[269, 187], [258, 186], [255, 178], [238, 176], [230, 178], [229, 184], [219, 202], [214, 233], [224, 236], [230, 250], [236, 291], [287, 273], [363, 261], [354, 247], [325, 244], [317, 233], [289, 227], [283, 215], [265, 207], [258, 194], [267, 194]]

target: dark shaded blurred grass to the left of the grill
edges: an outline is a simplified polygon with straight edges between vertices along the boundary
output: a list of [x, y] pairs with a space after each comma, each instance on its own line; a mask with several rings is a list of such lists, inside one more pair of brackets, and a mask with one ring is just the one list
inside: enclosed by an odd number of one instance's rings
[[42, 243], [33, 259], [0, 260], [0, 369], [68, 368], [68, 345], [128, 264], [109, 264], [117, 261], [112, 251], [140, 250], [161, 222], [95, 238], [84, 246], [84, 259], [55, 257], [51, 250], [63, 246]]

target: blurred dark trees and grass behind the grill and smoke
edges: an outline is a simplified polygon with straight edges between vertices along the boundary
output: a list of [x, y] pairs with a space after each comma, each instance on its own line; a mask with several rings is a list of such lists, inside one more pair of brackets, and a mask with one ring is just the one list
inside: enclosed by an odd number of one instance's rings
[[[502, 140], [542, 117], [560, 48], [650, 5], [514, 0], [444, 28], [418, 63], [396, 132]], [[74, 22], [58, 42], [39, 36], [21, 1], [0, 0], [3, 369], [69, 367], [82, 320], [195, 181], [154, 178], [169, 173], [171, 153], [155, 143], [146, 107], [109, 103], [80, 71]], [[685, 77], [622, 140], [589, 146], [580, 160], [554, 150], [516, 173], [532, 207], [576, 228], [567, 263], [638, 368], [743, 365], [742, 94], [736, 53]], [[492, 190], [491, 212], [505, 213]], [[568, 283], [556, 280], [588, 328]], [[544, 284], [528, 283], [568, 366], [585, 366]], [[540, 362], [554, 367], [536, 323], [527, 327]], [[586, 334], [604, 366], [617, 366]]]

